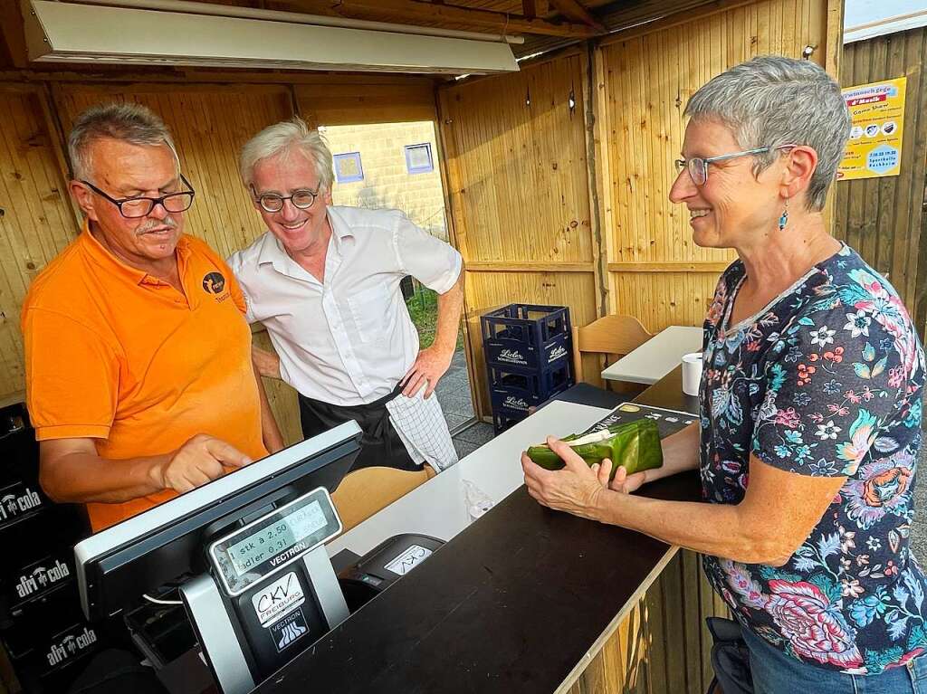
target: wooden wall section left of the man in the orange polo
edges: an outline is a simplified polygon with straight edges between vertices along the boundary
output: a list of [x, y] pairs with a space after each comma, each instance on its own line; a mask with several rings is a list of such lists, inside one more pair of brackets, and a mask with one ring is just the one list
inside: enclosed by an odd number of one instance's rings
[[24, 397], [19, 314], [32, 279], [77, 233], [41, 87], [0, 84], [0, 404]]

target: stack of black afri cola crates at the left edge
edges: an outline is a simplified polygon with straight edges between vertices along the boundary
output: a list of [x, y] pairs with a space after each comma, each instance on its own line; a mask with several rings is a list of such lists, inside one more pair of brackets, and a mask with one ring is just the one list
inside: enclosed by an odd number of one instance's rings
[[20, 405], [0, 410], [0, 641], [29, 694], [66, 691], [102, 638], [83, 618], [74, 579], [83, 511], [39, 487], [38, 446]]

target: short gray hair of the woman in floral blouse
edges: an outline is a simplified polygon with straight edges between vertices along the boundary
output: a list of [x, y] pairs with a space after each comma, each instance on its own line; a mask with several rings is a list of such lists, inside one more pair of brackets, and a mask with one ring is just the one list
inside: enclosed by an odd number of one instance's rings
[[851, 123], [840, 86], [818, 65], [790, 57], [755, 57], [707, 82], [692, 95], [685, 115], [719, 121], [743, 149], [770, 147], [756, 158], [756, 175], [775, 161], [775, 147], [813, 147], [818, 168], [808, 184], [806, 205], [824, 208]]

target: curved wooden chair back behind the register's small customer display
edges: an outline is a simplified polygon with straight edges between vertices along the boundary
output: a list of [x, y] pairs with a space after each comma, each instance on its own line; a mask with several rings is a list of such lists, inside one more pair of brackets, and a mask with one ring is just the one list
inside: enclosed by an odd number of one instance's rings
[[361, 468], [345, 475], [332, 501], [347, 532], [433, 476], [435, 471], [429, 465], [417, 473], [384, 467]]

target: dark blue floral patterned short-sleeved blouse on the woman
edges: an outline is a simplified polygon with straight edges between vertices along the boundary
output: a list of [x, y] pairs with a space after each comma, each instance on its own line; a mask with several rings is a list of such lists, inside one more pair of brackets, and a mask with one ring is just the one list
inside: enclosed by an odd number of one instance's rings
[[705, 557], [737, 619], [802, 662], [875, 674], [927, 649], [927, 579], [908, 550], [924, 352], [895, 289], [844, 246], [726, 327], [743, 263], [705, 321], [703, 495], [736, 504], [749, 456], [846, 477], [781, 567]]

